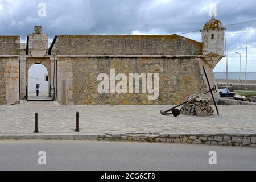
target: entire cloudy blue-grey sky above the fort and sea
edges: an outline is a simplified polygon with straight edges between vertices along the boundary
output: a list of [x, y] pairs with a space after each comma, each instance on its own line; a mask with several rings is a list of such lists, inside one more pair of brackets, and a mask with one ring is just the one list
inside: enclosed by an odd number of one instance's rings
[[[43, 4], [42, 4], [43, 3]], [[51, 38], [55, 34], [181, 34], [201, 41], [199, 30], [217, 7], [217, 19], [225, 25], [256, 19], [256, 1], [250, 0], [0, 0], [0, 35], [21, 35], [24, 40], [37, 24]], [[46, 16], [42, 16], [46, 5]], [[40, 15], [39, 15], [40, 14]], [[230, 45], [229, 71], [256, 71], [256, 21], [226, 26]], [[225, 59], [215, 71], [225, 71]]]

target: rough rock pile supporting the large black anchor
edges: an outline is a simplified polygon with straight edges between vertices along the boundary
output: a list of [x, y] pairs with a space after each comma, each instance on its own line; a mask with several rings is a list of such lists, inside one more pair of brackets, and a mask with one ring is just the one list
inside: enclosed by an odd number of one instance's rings
[[185, 115], [209, 116], [214, 113], [210, 100], [204, 94], [188, 97], [188, 103], [183, 105], [181, 113]]

